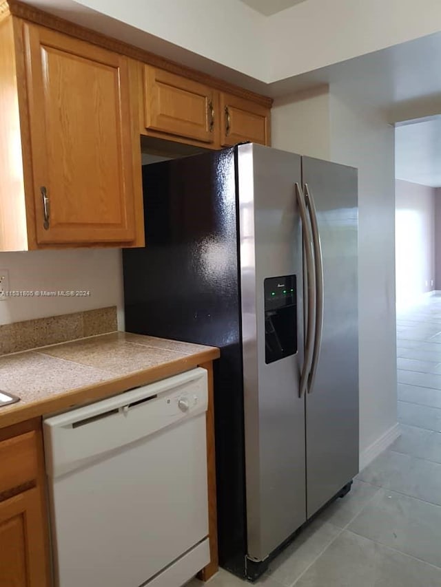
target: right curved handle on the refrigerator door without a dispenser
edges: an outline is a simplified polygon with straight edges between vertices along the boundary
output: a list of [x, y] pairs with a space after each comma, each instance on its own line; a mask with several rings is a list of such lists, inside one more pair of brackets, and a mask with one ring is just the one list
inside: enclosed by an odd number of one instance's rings
[[316, 378], [318, 359], [320, 358], [320, 348], [322, 345], [323, 332], [323, 255], [322, 244], [320, 242], [320, 233], [318, 231], [317, 211], [314, 204], [314, 198], [309, 191], [308, 184], [305, 183], [305, 200], [309, 218], [311, 220], [312, 242], [314, 244], [314, 267], [315, 267], [315, 281], [316, 281], [316, 328], [314, 333], [314, 350], [312, 353], [311, 370], [309, 372], [307, 381], [307, 391], [309, 394], [313, 392], [314, 380]]

